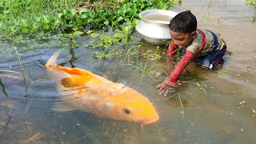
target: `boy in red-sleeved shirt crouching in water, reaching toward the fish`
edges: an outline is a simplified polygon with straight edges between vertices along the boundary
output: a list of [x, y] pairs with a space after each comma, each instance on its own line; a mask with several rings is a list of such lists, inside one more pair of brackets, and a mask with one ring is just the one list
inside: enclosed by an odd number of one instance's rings
[[223, 55], [226, 54], [226, 43], [210, 30], [197, 29], [197, 19], [190, 10], [177, 14], [170, 20], [170, 42], [167, 58], [174, 58], [178, 48], [184, 53], [180, 62], [175, 66], [170, 77], [159, 84], [159, 94], [170, 94], [178, 83], [182, 71], [195, 59], [206, 69], [217, 69], [223, 65]]

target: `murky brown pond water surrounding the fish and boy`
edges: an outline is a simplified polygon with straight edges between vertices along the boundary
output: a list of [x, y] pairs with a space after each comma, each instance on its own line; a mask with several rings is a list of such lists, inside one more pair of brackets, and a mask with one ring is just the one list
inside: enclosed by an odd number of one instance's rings
[[[192, 10], [198, 27], [222, 34], [234, 55], [225, 56], [220, 70], [202, 70], [192, 62], [182, 74], [175, 95], [166, 97], [158, 95], [155, 86], [173, 70], [174, 64], [169, 66], [152, 58], [124, 62], [126, 50], [136, 47], [136, 42], [144, 43], [140, 57], [156, 50], [138, 34], [134, 34], [138, 37], [134, 43], [114, 46], [118, 48], [117, 55], [122, 51], [125, 54], [111, 60], [93, 58], [94, 49], [86, 48], [88, 36], [77, 38], [78, 48], [71, 51], [69, 42], [59, 38], [16, 44], [26, 81], [21, 74], [0, 73], [0, 143], [254, 143], [255, 10], [245, 5], [244, 0], [186, 0], [182, 6], [174, 7], [177, 12]], [[0, 70], [21, 72], [14, 50], [0, 45]], [[62, 65], [90, 70], [138, 90], [153, 102], [160, 117], [158, 122], [144, 126], [142, 131], [136, 122], [98, 118], [79, 110], [53, 111], [60, 96], [44, 65], [56, 51], [61, 51], [58, 63]], [[127, 64], [140, 67], [144, 73]], [[147, 70], [150, 73], [145, 73]]]

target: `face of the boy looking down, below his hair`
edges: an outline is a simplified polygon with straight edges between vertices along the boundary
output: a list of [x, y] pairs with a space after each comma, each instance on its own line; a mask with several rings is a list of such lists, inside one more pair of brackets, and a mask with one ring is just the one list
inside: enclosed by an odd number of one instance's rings
[[186, 48], [194, 38], [197, 38], [197, 33], [195, 31], [192, 33], [182, 33], [170, 30], [170, 36], [173, 38], [175, 45]]

